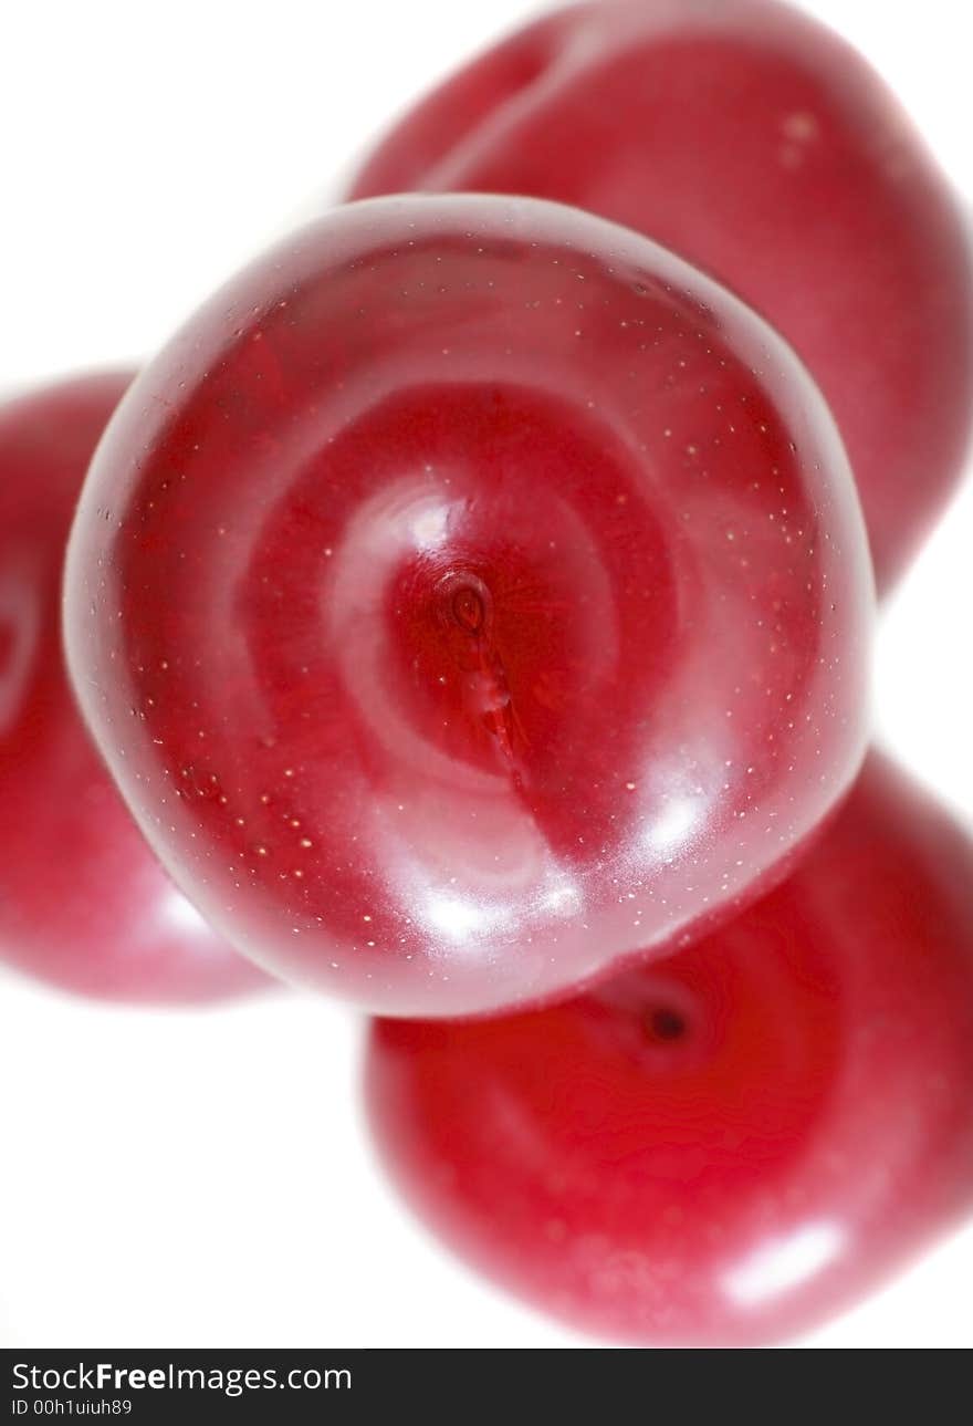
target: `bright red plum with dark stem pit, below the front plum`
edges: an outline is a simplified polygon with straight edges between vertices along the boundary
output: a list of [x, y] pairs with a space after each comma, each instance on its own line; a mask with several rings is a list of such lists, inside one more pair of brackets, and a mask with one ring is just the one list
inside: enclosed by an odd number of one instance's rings
[[376, 1021], [380, 1152], [457, 1252], [573, 1326], [746, 1345], [973, 1205], [973, 843], [872, 754], [799, 870], [546, 1011]]

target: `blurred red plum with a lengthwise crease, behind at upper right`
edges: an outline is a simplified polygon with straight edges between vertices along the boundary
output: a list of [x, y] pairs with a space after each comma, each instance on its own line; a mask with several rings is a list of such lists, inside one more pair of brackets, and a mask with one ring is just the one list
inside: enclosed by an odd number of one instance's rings
[[842, 40], [772, 0], [554, 11], [407, 114], [352, 195], [409, 190], [590, 208], [742, 297], [835, 414], [879, 590], [902, 573], [967, 451], [970, 242], [925, 144]]

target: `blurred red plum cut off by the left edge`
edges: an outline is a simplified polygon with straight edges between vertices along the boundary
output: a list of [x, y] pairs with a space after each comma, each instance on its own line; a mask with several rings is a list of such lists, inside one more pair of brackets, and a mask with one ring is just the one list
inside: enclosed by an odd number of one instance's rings
[[269, 984], [204, 924], [134, 826], [61, 652], [61, 568], [91, 453], [132, 379], [0, 408], [0, 958], [104, 1000], [188, 1004]]

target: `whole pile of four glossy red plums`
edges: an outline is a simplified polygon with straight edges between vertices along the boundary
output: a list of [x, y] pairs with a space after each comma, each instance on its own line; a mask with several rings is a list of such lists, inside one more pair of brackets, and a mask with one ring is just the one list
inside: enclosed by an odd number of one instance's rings
[[483, 1272], [791, 1336], [973, 1208], [973, 844], [868, 696], [963, 466], [957, 202], [772, 0], [556, 11], [349, 198], [0, 415], [0, 948], [342, 997]]

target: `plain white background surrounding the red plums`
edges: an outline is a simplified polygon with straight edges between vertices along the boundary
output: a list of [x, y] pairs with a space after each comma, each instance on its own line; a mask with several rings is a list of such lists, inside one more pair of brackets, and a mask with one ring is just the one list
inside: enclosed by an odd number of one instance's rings
[[[966, 0], [806, 9], [870, 56], [973, 201]], [[11, 4], [0, 392], [152, 351], [429, 81], [529, 13]], [[886, 612], [876, 670], [885, 742], [967, 813], [972, 548], [973, 482]], [[583, 1345], [400, 1209], [359, 1121], [359, 1041], [346, 1011], [286, 992], [150, 1014], [0, 980], [0, 1345]], [[967, 1231], [806, 1345], [970, 1346], [972, 1278]]]

